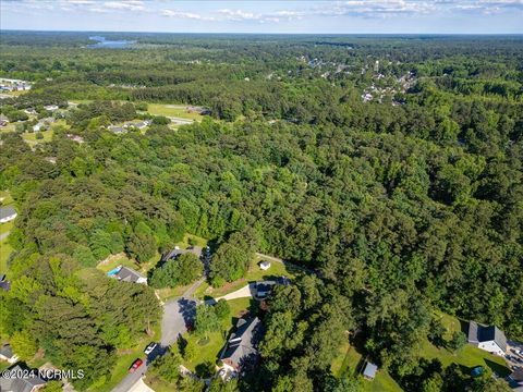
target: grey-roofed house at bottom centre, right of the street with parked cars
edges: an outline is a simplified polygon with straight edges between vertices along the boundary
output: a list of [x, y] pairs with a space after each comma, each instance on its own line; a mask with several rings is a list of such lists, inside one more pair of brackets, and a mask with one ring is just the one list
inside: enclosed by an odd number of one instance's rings
[[226, 369], [238, 372], [257, 358], [256, 344], [259, 340], [260, 329], [262, 321], [257, 317], [241, 318], [238, 321], [236, 330], [229, 338], [221, 354], [221, 362]]

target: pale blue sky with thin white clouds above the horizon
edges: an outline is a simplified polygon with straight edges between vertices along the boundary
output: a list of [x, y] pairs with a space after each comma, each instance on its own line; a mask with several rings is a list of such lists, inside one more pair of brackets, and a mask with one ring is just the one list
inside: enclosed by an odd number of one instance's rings
[[0, 0], [2, 29], [521, 34], [523, 0]]

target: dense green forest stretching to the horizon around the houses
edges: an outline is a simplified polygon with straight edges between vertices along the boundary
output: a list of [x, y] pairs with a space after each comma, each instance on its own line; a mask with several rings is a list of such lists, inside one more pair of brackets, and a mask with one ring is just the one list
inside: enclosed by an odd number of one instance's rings
[[[89, 100], [48, 143], [0, 134], [0, 189], [20, 211], [2, 334], [87, 369], [75, 385], [96, 390], [161, 311], [150, 287], [93, 267], [147, 262], [191, 233], [216, 244], [216, 286], [254, 252], [317, 271], [276, 290], [263, 377], [228, 388], [357, 391], [330, 373], [345, 331], [406, 391], [496, 388], [412, 348], [435, 339], [435, 311], [523, 340], [521, 37], [105, 35], [137, 45], [2, 33], [0, 77], [35, 83], [3, 114]], [[146, 102], [211, 114], [174, 131], [157, 118], [145, 134], [102, 126], [146, 118]], [[191, 280], [159, 271], [153, 284], [169, 279]]]

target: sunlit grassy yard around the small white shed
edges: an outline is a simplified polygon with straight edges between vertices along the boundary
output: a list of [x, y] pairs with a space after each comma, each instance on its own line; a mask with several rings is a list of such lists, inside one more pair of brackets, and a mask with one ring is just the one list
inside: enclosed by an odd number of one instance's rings
[[197, 298], [203, 297], [219, 297], [229, 293], [232, 293], [248, 282], [260, 281], [260, 280], [272, 280], [278, 277], [288, 277], [290, 279], [296, 278], [301, 272], [300, 270], [288, 267], [281, 262], [271, 261], [270, 268], [266, 271], [262, 270], [257, 264], [258, 259], [254, 260], [247, 271], [245, 278], [239, 279], [238, 281], [227, 283], [221, 287], [215, 289], [211, 287], [208, 283], [202, 284], [196, 293], [194, 294]]

